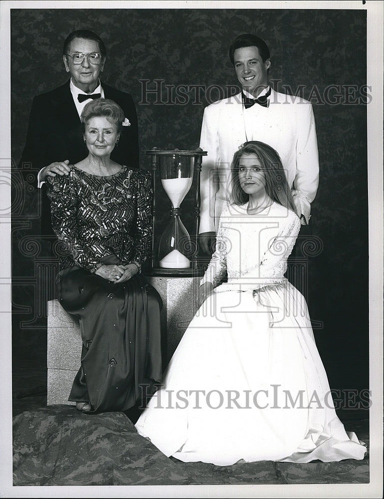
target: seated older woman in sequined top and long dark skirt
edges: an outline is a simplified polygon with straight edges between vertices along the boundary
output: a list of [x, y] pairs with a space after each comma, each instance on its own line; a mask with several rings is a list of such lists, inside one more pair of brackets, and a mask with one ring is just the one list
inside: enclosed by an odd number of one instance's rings
[[152, 237], [152, 188], [148, 172], [110, 159], [123, 121], [112, 100], [89, 102], [81, 114], [88, 156], [68, 176], [47, 179], [52, 226], [64, 249], [59, 300], [78, 318], [82, 338], [68, 400], [86, 413], [127, 411], [161, 378], [161, 298], [141, 274]]

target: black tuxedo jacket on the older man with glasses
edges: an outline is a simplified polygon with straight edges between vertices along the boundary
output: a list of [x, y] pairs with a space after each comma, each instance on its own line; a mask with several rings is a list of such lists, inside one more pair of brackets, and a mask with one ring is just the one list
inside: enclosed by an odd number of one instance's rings
[[[81, 133], [80, 118], [73, 102], [68, 80], [50, 92], [33, 98], [25, 147], [19, 162], [23, 179], [37, 188], [37, 174], [54, 161], [77, 163], [88, 155]], [[130, 168], [139, 167], [138, 127], [135, 105], [130, 94], [101, 83], [104, 97], [114, 100], [124, 111], [130, 126], [124, 126], [111, 159]], [[49, 201], [41, 190], [41, 233], [53, 236]]]

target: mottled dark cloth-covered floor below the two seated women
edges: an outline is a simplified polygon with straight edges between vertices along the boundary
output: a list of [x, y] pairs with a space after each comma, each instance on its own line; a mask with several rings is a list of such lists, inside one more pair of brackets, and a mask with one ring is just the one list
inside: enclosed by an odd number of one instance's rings
[[[363, 461], [236, 463], [218, 467], [166, 458], [123, 413], [80, 414], [46, 406], [43, 354], [17, 354], [12, 369], [13, 486], [367, 484]], [[369, 420], [344, 421], [369, 449]]]

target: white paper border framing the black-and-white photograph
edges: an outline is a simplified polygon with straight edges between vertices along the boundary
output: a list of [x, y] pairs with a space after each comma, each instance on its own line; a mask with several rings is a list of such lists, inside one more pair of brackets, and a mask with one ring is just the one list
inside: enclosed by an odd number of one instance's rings
[[[252, 8], [363, 9], [367, 11], [368, 194], [370, 282], [370, 484], [118, 486], [87, 487], [89, 497], [265, 497], [375, 498], [383, 493], [383, 2], [382, 1], [1, 1], [0, 2], [0, 175], [10, 167], [10, 9], [11, 8]], [[10, 186], [0, 182], [0, 210], [10, 207]], [[11, 309], [10, 217], [0, 223], [1, 311]], [[1, 315], [0, 497], [82, 497], [84, 487], [12, 486], [11, 314]], [[353, 341], [353, 338], [351, 338]]]

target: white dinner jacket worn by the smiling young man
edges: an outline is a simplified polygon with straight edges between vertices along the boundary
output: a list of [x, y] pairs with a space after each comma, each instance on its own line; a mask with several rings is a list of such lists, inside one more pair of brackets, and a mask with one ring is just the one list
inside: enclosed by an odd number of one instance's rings
[[[220, 216], [216, 200], [228, 200], [230, 166], [234, 153], [246, 141], [273, 147], [282, 160], [294, 201], [306, 221], [319, 185], [319, 154], [311, 102], [271, 89], [268, 108], [245, 110], [241, 93], [214, 102], [204, 110], [200, 147], [208, 152], [201, 171], [199, 233], [217, 232]], [[223, 203], [217, 205], [223, 206]], [[221, 210], [220, 210], [221, 211]], [[217, 224], [216, 224], [217, 225]]]

